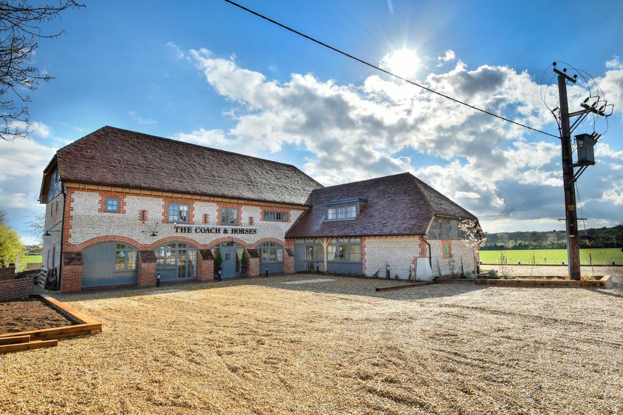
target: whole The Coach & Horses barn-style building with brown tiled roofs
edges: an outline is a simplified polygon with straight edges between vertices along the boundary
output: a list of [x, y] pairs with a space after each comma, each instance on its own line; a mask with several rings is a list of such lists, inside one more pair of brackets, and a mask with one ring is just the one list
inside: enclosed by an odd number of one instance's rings
[[212, 280], [217, 251], [222, 278], [430, 279], [476, 260], [459, 237], [476, 217], [410, 173], [323, 187], [292, 165], [110, 126], [57, 151], [40, 203], [43, 267], [64, 292]]

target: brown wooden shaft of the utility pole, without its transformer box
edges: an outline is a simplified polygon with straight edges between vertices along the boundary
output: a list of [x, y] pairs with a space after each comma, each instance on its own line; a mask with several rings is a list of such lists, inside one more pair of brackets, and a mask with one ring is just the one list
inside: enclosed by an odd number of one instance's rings
[[563, 148], [563, 186], [564, 213], [567, 228], [567, 264], [569, 279], [580, 279], [580, 245], [578, 237], [578, 213], [576, 211], [576, 186], [573, 178], [573, 158], [571, 152], [571, 126], [569, 125], [569, 104], [567, 102], [567, 81], [576, 83], [574, 78], [556, 69], [558, 74], [558, 96], [560, 98], [560, 142]]

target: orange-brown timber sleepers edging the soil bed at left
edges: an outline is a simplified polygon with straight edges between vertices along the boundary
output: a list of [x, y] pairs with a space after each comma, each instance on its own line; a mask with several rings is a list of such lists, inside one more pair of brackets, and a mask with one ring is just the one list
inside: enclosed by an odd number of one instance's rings
[[[29, 330], [27, 332], [4, 333], [4, 334], [0, 334], [0, 341], [2, 341], [3, 339], [9, 338], [9, 337], [13, 338], [13, 337], [20, 337], [20, 336], [30, 336], [29, 337], [30, 343], [22, 343], [22, 345], [29, 345], [31, 343], [34, 343], [34, 341], [58, 340], [59, 338], [83, 336], [83, 335], [102, 332], [102, 323], [97, 322], [93, 320], [92, 318], [84, 315], [83, 313], [78, 312], [78, 310], [76, 310], [74, 307], [70, 307], [69, 305], [64, 304], [60, 302], [59, 300], [52, 298], [49, 295], [45, 295], [45, 294], [41, 294], [41, 295], [33, 294], [32, 297], [40, 298], [43, 302], [50, 305], [50, 307], [54, 308], [55, 310], [57, 310], [59, 313], [61, 313], [65, 317], [69, 318], [70, 320], [78, 324], [75, 324], [72, 326], [63, 326], [63, 327], [42, 328], [40, 330]], [[29, 348], [55, 345], [55, 344], [52, 344], [54, 342], [40, 341], [39, 343], [41, 344], [35, 345], [33, 347], [29, 347]], [[11, 345], [11, 346], [17, 346], [17, 345]], [[2, 347], [6, 347], [6, 346], [0, 346], [0, 353], [2, 352]], [[25, 349], [21, 349], [21, 350], [27, 350], [27, 349], [28, 347]], [[6, 350], [6, 351], [17, 351], [17, 350], [19, 349]]]

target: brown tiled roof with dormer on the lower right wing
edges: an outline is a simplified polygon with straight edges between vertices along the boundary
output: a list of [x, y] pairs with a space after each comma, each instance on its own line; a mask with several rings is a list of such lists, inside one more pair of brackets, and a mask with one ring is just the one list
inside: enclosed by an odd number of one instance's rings
[[[356, 218], [325, 221], [326, 203], [354, 198], [368, 201]], [[315, 189], [308, 204], [287, 237], [424, 235], [435, 214], [476, 219], [411, 173]]]

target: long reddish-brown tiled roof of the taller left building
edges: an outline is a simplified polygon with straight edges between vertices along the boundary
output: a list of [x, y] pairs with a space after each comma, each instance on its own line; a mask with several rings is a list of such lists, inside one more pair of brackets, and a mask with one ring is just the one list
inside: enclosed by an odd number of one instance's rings
[[322, 185], [292, 165], [105, 126], [57, 152], [64, 181], [305, 204]]

